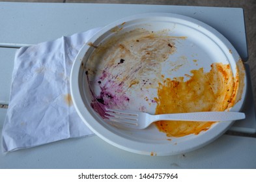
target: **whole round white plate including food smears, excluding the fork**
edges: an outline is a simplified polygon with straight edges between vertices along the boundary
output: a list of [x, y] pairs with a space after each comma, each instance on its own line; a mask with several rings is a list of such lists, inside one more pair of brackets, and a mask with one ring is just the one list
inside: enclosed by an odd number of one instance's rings
[[201, 148], [233, 121], [124, 129], [105, 120], [106, 108], [239, 111], [246, 95], [244, 66], [233, 45], [205, 23], [178, 14], [140, 14], [107, 25], [81, 48], [70, 80], [83, 122], [110, 144], [145, 155]]

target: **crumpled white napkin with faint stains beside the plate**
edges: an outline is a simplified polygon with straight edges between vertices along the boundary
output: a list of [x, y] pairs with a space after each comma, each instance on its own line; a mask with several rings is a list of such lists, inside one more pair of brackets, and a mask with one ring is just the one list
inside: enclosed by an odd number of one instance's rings
[[70, 96], [70, 72], [79, 49], [100, 28], [16, 51], [3, 151], [93, 135]]

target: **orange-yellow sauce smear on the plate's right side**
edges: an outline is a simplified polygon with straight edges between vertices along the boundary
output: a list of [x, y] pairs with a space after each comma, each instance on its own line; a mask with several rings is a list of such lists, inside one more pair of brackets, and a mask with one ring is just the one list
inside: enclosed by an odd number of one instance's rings
[[[210, 72], [203, 68], [192, 70], [191, 75], [164, 78], [159, 83], [156, 114], [223, 111], [235, 104], [236, 78], [229, 64], [213, 63]], [[163, 76], [164, 77], [164, 76]], [[198, 135], [208, 130], [215, 122], [159, 121], [158, 129], [167, 136]]]

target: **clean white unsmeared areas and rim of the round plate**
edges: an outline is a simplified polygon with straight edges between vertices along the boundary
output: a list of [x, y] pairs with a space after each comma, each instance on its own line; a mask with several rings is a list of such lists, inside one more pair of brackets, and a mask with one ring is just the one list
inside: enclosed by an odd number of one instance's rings
[[[185, 66], [182, 66], [182, 71], [176, 69], [178, 67], [175, 67], [176, 72], [169, 73], [169, 66], [163, 63], [164, 66], [161, 67], [161, 72], [165, 77], [181, 77], [184, 76], [184, 73], [189, 74], [190, 70], [199, 68], [204, 68], [204, 72], [208, 72], [208, 70], [210, 70], [210, 64], [214, 62], [230, 64], [234, 77], [236, 77], [236, 73], [239, 71], [240, 76], [242, 75], [240, 80], [242, 79], [241, 82], [244, 83], [244, 85], [240, 84], [240, 87], [242, 86], [242, 88], [240, 88], [240, 92], [242, 93], [240, 94], [240, 101], [238, 101], [231, 110], [238, 111], [242, 108], [246, 95], [245, 71], [243, 66], [237, 66], [238, 62], [241, 62], [240, 57], [233, 45], [231, 45], [225, 37], [205, 23], [186, 16], [156, 13], [140, 14], [107, 25], [89, 40], [89, 44], [84, 45], [81, 51], [79, 51], [72, 67], [70, 80], [72, 99], [83, 122], [85, 122], [96, 135], [110, 144], [127, 151], [145, 155], [175, 155], [188, 152], [193, 149], [201, 148], [222, 135], [233, 122], [214, 123], [210, 129], [202, 131], [199, 135], [168, 137], [165, 133], [158, 131], [155, 125], [150, 125], [150, 127], [145, 130], [121, 129], [109, 125], [92, 109], [91, 105], [94, 99], [92, 92], [95, 95], [100, 94], [100, 86], [96, 84], [97, 76], [95, 76], [94, 83], [89, 80], [87, 75], [87, 61], [90, 59], [96, 46], [104, 44], [108, 38], [134, 29], [143, 29], [151, 32], [163, 31], [165, 34], [169, 34], [169, 36], [186, 37], [184, 39], [174, 40], [177, 50], [171, 55], [172, 60], [180, 60], [182, 57], [186, 57], [183, 62]], [[191, 61], [187, 61], [192, 59], [196, 59], [197, 62], [191, 63]], [[180, 61], [182, 62], [182, 60]], [[99, 67], [96, 69], [100, 70], [100, 64], [103, 63], [98, 62], [98, 64]], [[92, 73], [94, 72], [93, 70], [90, 71]], [[122, 71], [115, 70], [115, 72]], [[154, 79], [154, 74], [150, 74], [148, 77], [149, 80], [152, 80]], [[88, 81], [90, 83], [88, 83]], [[113, 82], [115, 82], [115, 80], [111, 81], [111, 83]], [[148, 90], [148, 92], [151, 91]], [[131, 92], [130, 96], [132, 96], [134, 92]], [[134, 94], [134, 97], [139, 96]], [[129, 104], [126, 105], [126, 107], [130, 109], [139, 110], [143, 105], [147, 105], [144, 102], [145, 98], [132, 99], [133, 101], [130, 101]], [[152, 105], [147, 105], [145, 108], [145, 110], [149, 112], [154, 112], [155, 105], [152, 103]]]

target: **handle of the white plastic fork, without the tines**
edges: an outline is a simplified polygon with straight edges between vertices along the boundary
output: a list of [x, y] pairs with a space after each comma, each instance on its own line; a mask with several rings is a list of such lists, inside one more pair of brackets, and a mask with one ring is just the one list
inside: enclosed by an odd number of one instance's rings
[[246, 118], [243, 112], [187, 112], [175, 114], [154, 115], [155, 121], [158, 120], [178, 120], [190, 122], [225, 122], [232, 120], [242, 120]]

